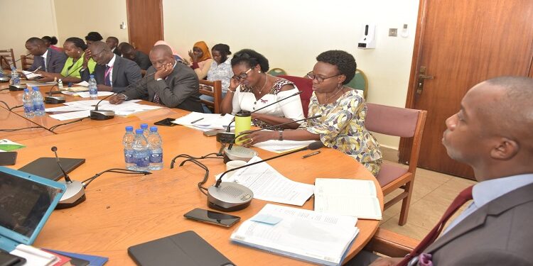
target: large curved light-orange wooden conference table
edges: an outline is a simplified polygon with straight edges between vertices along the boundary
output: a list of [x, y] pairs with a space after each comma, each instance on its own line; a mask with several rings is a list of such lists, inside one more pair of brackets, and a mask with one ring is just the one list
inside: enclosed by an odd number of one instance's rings
[[[70, 96], [68, 100], [69, 98]], [[97, 172], [110, 168], [124, 168], [122, 136], [125, 126], [139, 128], [140, 123], [149, 123], [152, 126], [162, 118], [177, 118], [188, 113], [179, 109], [158, 110], [127, 118], [115, 117], [109, 121], [73, 123], [69, 125], [72, 127], [57, 134], [36, 133], [33, 137], [28, 137], [31, 133], [25, 133], [26, 138], [21, 138], [17, 142], [26, 145], [26, 148], [17, 150], [18, 160], [11, 168], [18, 169], [38, 157], [53, 157], [50, 151], [53, 145], [58, 147], [60, 157], [85, 158], [84, 164], [70, 172], [72, 179], [82, 181]], [[0, 109], [0, 117], [4, 111]], [[16, 113], [6, 116], [16, 117]], [[28, 119], [23, 119], [26, 122], [18, 118], [16, 121], [28, 123]], [[33, 119], [31, 123], [48, 125]], [[171, 169], [171, 159], [178, 154], [199, 157], [216, 153], [221, 144], [217, 143], [214, 137], [206, 137], [201, 131], [185, 126], [158, 126], [158, 131], [163, 138], [163, 170], [153, 171], [153, 174], [146, 176], [102, 174], [87, 186], [85, 202], [70, 209], [53, 212], [33, 245], [39, 248], [109, 257], [106, 265], [134, 265], [127, 254], [127, 248], [130, 246], [183, 231], [195, 231], [236, 265], [309, 264], [232, 243], [230, 235], [241, 222], [231, 228], [224, 228], [184, 218], [183, 214], [192, 209], [208, 209], [207, 196], [197, 187], [205, 171], [190, 162], [179, 167], [179, 162], [184, 158], [178, 159], [176, 166]], [[254, 150], [257, 150], [259, 157], [263, 159], [276, 155], [259, 148]], [[322, 148], [320, 154], [303, 159], [302, 155], [305, 154], [306, 152], [294, 153], [268, 163], [285, 177], [296, 182], [313, 184], [317, 177], [370, 179], [379, 188], [375, 177], [348, 155], [329, 148]], [[225, 164], [222, 159], [201, 161], [210, 170], [208, 182], [205, 184], [207, 187], [214, 184], [215, 174], [224, 172]], [[381, 189], [377, 189], [377, 196], [383, 206]], [[269, 201], [254, 199], [246, 209], [230, 214], [239, 216], [241, 221], [244, 221], [257, 214], [267, 203]], [[313, 209], [313, 198], [311, 197], [302, 208]], [[379, 221], [375, 220], [357, 221], [360, 233], [352, 244], [346, 260], [355, 256], [364, 247], [378, 226]]]

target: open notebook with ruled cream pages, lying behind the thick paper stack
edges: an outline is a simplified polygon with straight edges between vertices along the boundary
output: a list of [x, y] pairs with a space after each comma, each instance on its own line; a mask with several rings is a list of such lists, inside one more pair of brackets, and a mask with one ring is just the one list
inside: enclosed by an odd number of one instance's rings
[[376, 186], [371, 180], [317, 178], [315, 211], [381, 220]]

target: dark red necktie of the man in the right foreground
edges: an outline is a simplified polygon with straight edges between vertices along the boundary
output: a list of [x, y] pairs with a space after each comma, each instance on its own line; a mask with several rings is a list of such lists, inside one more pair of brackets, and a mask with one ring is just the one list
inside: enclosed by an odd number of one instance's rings
[[469, 201], [472, 199], [472, 187], [467, 187], [465, 190], [463, 190], [459, 195], [456, 197], [456, 199], [453, 200], [451, 205], [448, 207], [446, 212], [441, 218], [441, 221], [438, 221], [436, 226], [426, 235], [426, 237], [419, 243], [419, 245], [414, 248], [409, 255], [407, 255], [402, 262], [399, 262], [398, 265], [404, 266], [407, 265], [407, 263], [413, 258], [418, 256], [422, 251], [424, 251], [431, 243], [434, 243], [434, 241], [437, 239], [438, 235], [441, 233], [444, 224], [446, 224], [446, 221], [456, 213], [456, 211], [465, 204], [466, 201]]

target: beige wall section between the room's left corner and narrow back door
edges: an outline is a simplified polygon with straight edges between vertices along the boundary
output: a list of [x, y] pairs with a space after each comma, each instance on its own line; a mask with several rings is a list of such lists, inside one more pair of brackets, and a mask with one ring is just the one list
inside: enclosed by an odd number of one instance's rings
[[60, 43], [66, 38], [85, 39], [90, 31], [97, 31], [104, 37], [128, 41], [127, 28], [120, 29], [120, 23], [128, 23], [125, 0], [55, 0], [55, 16], [58, 21]]

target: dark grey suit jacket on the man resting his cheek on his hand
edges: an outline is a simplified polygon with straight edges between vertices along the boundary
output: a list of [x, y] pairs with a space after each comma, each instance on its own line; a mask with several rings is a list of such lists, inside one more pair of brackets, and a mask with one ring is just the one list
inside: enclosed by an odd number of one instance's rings
[[154, 96], [159, 96], [161, 104], [188, 111], [203, 112], [200, 104], [200, 92], [198, 92], [198, 76], [190, 67], [176, 63], [176, 67], [166, 79], [156, 81], [153, 73], [154, 67], [146, 71], [146, 82], [141, 82], [140, 86], [129, 89], [123, 94], [128, 99], [148, 99], [154, 101]]

